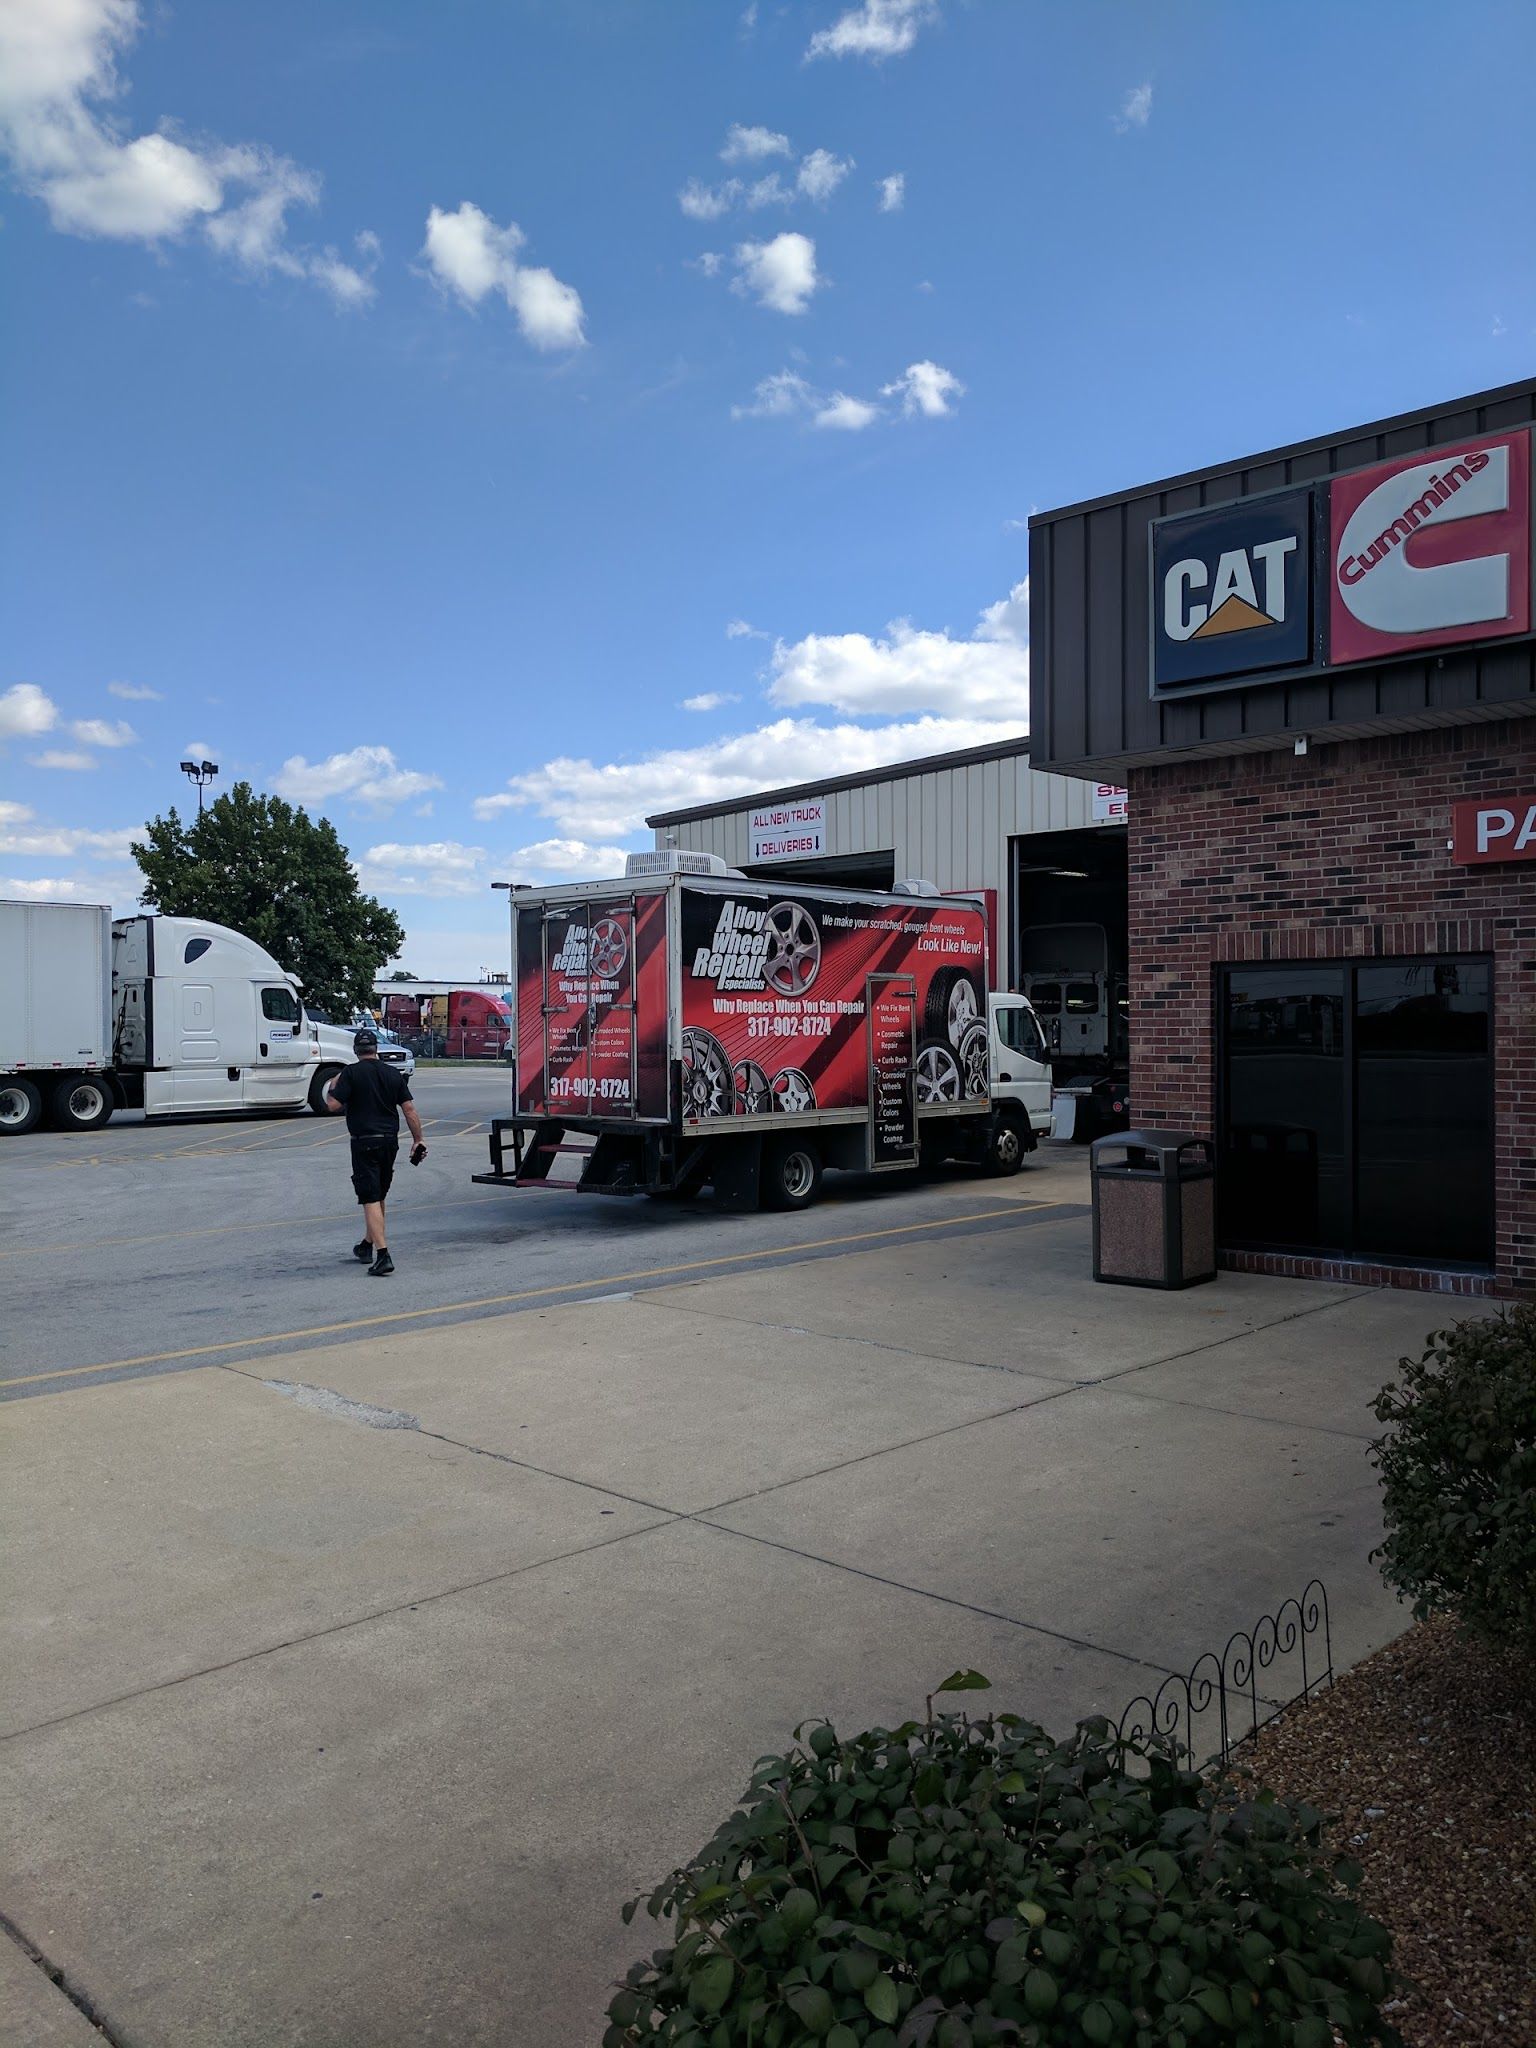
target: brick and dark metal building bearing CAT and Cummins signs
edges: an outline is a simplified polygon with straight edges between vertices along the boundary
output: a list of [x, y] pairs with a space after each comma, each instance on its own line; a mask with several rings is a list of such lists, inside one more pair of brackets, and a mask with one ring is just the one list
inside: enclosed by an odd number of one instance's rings
[[1229, 1266], [1536, 1290], [1536, 381], [1030, 520], [1032, 754], [1128, 784], [1130, 1100]]

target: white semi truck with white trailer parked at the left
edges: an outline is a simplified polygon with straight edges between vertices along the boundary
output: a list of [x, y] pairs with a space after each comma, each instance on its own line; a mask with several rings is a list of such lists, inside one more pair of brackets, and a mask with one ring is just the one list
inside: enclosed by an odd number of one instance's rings
[[0, 1137], [319, 1108], [319, 1077], [299, 983], [242, 932], [0, 903]]

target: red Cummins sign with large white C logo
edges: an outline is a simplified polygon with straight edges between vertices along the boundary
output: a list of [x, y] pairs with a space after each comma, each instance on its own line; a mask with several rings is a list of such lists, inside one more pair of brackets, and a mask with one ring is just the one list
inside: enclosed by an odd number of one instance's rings
[[1530, 430], [1329, 485], [1329, 659], [1530, 631]]

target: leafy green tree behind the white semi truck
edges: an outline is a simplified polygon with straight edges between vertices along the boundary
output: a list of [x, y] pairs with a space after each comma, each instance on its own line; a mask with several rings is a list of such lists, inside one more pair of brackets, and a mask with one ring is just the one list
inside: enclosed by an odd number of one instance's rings
[[369, 1006], [373, 977], [406, 944], [399, 918], [358, 887], [330, 819], [258, 797], [250, 782], [190, 823], [174, 809], [152, 817], [133, 858], [145, 909], [244, 932], [336, 1016]]

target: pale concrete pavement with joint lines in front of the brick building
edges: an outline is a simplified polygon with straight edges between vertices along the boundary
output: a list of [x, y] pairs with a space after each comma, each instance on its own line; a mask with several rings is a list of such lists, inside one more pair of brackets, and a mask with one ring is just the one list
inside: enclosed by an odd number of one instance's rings
[[1440, 1305], [1096, 1288], [1051, 1182], [8, 1407], [0, 1915], [131, 2048], [580, 2048], [795, 1722], [1118, 1712], [1313, 1577], [1386, 1640], [1366, 1403]]

